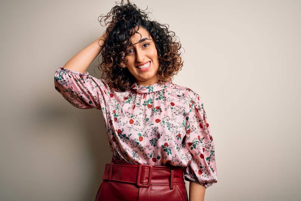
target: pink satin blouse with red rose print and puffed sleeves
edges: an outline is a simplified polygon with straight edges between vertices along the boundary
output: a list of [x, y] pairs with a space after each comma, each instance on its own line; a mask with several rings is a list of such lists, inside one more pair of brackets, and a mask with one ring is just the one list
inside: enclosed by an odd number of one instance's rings
[[102, 111], [110, 149], [132, 164], [184, 167], [184, 179], [205, 188], [217, 183], [213, 137], [203, 102], [172, 82], [133, 83], [124, 92], [104, 80], [61, 66], [55, 89], [79, 109]]

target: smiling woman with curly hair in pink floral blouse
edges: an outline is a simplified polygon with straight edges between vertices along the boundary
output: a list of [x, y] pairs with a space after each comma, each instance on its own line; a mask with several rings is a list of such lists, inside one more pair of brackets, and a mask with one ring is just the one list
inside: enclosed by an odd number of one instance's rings
[[[217, 182], [214, 142], [200, 96], [172, 83], [179, 42], [136, 5], [116, 5], [104, 34], [54, 75], [76, 108], [102, 111], [111, 163], [96, 200], [203, 200]], [[101, 79], [86, 72], [101, 53]]]

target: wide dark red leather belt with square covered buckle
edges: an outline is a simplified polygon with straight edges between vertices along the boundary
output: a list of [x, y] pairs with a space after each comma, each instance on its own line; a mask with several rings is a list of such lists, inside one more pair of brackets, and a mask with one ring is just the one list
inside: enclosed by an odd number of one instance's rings
[[105, 165], [103, 180], [119, 181], [136, 184], [138, 187], [148, 188], [151, 185], [170, 185], [185, 183], [182, 166], [153, 166], [146, 164], [131, 164], [112, 158], [111, 163]]

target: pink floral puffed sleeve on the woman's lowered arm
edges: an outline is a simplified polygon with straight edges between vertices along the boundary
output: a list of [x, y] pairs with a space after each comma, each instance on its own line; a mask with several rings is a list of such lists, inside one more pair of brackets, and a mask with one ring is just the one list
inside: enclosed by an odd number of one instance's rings
[[184, 167], [184, 178], [203, 185], [205, 188], [217, 183], [213, 137], [200, 96], [191, 100], [186, 117], [185, 145], [191, 156]]

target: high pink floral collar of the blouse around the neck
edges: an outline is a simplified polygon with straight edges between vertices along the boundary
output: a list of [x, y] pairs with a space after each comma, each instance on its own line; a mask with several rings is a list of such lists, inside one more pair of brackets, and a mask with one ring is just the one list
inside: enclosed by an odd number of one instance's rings
[[158, 81], [151, 85], [144, 86], [144, 85], [137, 85], [137, 83], [134, 82], [130, 88], [132, 90], [137, 91], [138, 93], [152, 93], [152, 92], [166, 89], [167, 87], [171, 86], [172, 84], [173, 83], [171, 81]]

